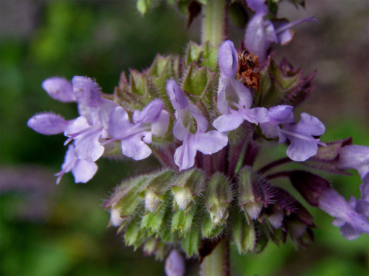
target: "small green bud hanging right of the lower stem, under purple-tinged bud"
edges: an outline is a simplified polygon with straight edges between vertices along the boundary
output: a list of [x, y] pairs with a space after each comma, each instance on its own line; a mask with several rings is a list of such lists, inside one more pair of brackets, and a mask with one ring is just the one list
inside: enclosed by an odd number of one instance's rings
[[254, 222], [248, 224], [244, 216], [236, 216], [232, 224], [232, 238], [239, 254], [252, 252], [256, 245]]

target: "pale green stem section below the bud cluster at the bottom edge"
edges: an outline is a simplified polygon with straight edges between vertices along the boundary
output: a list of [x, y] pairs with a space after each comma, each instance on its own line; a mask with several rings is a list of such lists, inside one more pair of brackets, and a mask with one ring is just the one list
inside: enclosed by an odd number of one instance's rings
[[200, 275], [230, 275], [230, 248], [228, 238], [224, 238], [201, 263]]

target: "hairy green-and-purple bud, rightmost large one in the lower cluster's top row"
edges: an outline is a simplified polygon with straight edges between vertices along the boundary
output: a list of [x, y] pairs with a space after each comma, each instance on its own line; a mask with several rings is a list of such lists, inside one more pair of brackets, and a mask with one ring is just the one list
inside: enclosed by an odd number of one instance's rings
[[243, 167], [238, 173], [239, 205], [251, 219], [257, 219], [263, 206], [269, 203], [266, 180], [255, 175], [250, 167]]

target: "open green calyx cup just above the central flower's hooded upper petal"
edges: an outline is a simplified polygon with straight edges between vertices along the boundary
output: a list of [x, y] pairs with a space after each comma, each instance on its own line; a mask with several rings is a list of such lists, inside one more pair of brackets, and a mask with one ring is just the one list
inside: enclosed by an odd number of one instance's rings
[[195, 103], [197, 103], [196, 96], [205, 104], [211, 103], [218, 89], [217, 73], [211, 73], [209, 68], [199, 67], [191, 61], [184, 74], [182, 89], [190, 94], [190, 99]]

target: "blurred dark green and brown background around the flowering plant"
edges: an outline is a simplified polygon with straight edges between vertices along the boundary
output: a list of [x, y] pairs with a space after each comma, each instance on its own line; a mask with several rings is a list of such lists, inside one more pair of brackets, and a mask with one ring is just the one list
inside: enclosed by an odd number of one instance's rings
[[[44, 110], [67, 119], [77, 116], [75, 104], [59, 103], [42, 90], [47, 77], [87, 75], [111, 93], [121, 71], [142, 70], [158, 52], [183, 54], [190, 39], [200, 42], [199, 19], [186, 31], [177, 8], [158, 2], [141, 17], [135, 4], [0, 1], [1, 275], [164, 274], [163, 263], [124, 247], [116, 229], [106, 229], [109, 213], [102, 208], [115, 184], [154, 160], [100, 159], [89, 183], [75, 184], [66, 174], [56, 186], [53, 174], [63, 162], [65, 138], [46, 137], [26, 126], [28, 118]], [[352, 136], [355, 144], [368, 145], [368, 6], [368, 1], [307, 1], [306, 10], [280, 5], [280, 17], [315, 15], [319, 20], [296, 26], [295, 39], [276, 47], [275, 57], [286, 56], [306, 74], [318, 69], [318, 87], [296, 114], [318, 117], [326, 126], [324, 142]], [[237, 45], [242, 31], [232, 24], [229, 31]], [[281, 145], [276, 156], [284, 151]], [[261, 155], [258, 163], [266, 162]], [[324, 176], [348, 199], [360, 195], [360, 178], [352, 173]], [[270, 243], [261, 254], [248, 256], [232, 251], [232, 274], [368, 275], [368, 236], [346, 241], [330, 216], [307, 207], [319, 227], [314, 244], [296, 250], [290, 242]], [[197, 270], [196, 260], [189, 260], [186, 273]]]

